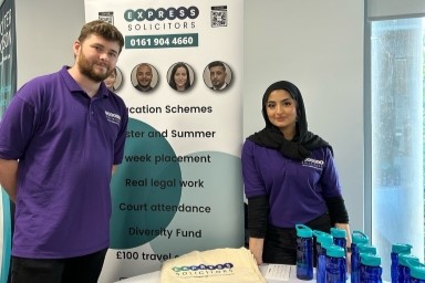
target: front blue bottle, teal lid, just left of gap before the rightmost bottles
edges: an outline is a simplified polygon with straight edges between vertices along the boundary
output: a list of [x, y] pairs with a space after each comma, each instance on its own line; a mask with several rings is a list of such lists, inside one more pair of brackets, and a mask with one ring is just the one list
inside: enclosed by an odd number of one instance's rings
[[382, 283], [381, 258], [376, 254], [360, 254], [360, 282]]

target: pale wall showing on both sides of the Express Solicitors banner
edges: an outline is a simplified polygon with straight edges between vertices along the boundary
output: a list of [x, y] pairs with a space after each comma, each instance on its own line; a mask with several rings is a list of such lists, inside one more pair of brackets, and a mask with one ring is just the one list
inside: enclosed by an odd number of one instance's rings
[[[72, 64], [83, 0], [15, 0], [15, 9], [18, 86]], [[245, 1], [243, 136], [263, 127], [269, 84], [297, 84], [310, 130], [333, 146], [356, 230], [363, 230], [363, 1]]]

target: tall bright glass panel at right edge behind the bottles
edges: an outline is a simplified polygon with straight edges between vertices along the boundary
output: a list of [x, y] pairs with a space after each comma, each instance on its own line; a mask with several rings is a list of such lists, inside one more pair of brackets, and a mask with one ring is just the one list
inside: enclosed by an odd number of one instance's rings
[[423, 21], [372, 22], [372, 244], [390, 281], [393, 243], [424, 261]]

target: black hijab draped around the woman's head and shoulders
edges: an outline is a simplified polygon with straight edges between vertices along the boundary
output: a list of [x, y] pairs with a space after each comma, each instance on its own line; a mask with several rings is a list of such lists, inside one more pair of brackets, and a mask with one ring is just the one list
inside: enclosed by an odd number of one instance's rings
[[[279, 128], [272, 125], [267, 116], [267, 101], [270, 93], [276, 90], [289, 92], [297, 102], [297, 134], [292, 140], [286, 139]], [[248, 137], [249, 140], [257, 145], [277, 149], [283, 156], [294, 160], [305, 159], [311, 155], [311, 150], [320, 147], [329, 147], [332, 151], [332, 147], [325, 140], [308, 130], [304, 102], [302, 101], [301, 92], [294, 84], [287, 81], [271, 84], [262, 96], [262, 116], [266, 120], [266, 127]]]

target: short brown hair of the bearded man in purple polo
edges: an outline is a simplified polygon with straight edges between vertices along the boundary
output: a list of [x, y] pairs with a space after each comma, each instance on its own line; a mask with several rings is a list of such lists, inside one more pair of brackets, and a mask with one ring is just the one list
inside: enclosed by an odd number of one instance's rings
[[102, 38], [108, 41], [117, 41], [120, 44], [120, 53], [123, 50], [123, 46], [124, 46], [123, 34], [118, 31], [118, 29], [115, 28], [115, 25], [108, 22], [101, 21], [101, 20], [87, 22], [81, 29], [79, 41], [83, 42], [91, 34], [101, 35]]

